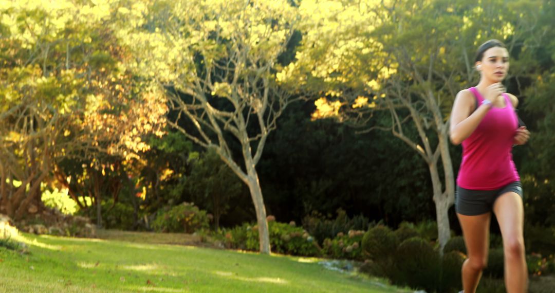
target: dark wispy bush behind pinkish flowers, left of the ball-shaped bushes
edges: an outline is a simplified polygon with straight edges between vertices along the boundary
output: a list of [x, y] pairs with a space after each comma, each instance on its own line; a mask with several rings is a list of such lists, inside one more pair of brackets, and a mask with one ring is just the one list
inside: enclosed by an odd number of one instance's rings
[[313, 235], [317, 243], [324, 244], [325, 239], [334, 239], [339, 233], [347, 234], [351, 230], [366, 231], [373, 224], [362, 214], [349, 218], [344, 209], [337, 209], [337, 217], [331, 219], [330, 215], [324, 216], [317, 211], [312, 211], [302, 219], [302, 226]]

